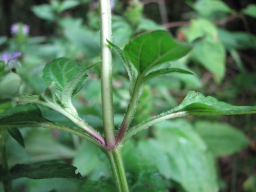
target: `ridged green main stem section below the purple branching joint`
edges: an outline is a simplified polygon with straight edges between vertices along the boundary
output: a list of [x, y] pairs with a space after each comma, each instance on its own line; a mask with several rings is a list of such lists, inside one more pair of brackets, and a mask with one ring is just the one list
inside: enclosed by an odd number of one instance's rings
[[129, 187], [128, 187], [126, 176], [125, 176], [125, 170], [123, 167], [121, 146], [119, 145], [116, 148], [111, 149], [108, 152], [108, 158], [110, 161], [117, 191], [129, 192]]

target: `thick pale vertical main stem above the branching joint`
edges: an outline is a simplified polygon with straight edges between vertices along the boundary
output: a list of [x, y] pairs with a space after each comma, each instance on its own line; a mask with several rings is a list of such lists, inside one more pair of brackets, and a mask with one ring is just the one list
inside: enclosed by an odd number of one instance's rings
[[106, 39], [112, 39], [110, 0], [99, 0], [100, 6], [100, 38], [101, 38], [101, 101], [103, 126], [106, 146], [113, 148], [115, 141], [115, 126], [113, 115], [112, 91], [112, 55]]

